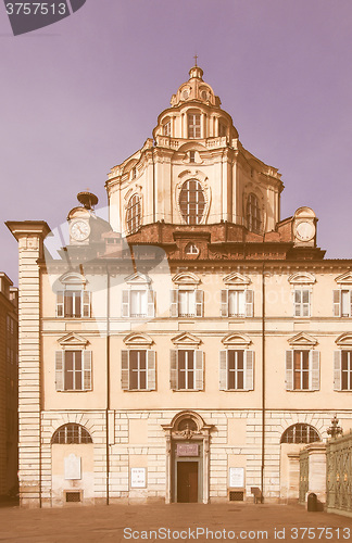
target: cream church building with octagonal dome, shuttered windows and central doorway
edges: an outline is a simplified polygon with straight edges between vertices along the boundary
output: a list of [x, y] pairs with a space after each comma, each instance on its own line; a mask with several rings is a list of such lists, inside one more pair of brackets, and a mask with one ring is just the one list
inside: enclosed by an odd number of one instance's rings
[[352, 261], [310, 207], [280, 218], [278, 169], [199, 66], [152, 136], [111, 169], [109, 223], [78, 194], [59, 254], [8, 223], [24, 506], [287, 503], [299, 451], [352, 428]]

